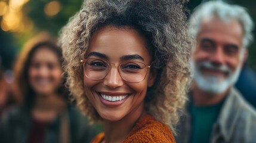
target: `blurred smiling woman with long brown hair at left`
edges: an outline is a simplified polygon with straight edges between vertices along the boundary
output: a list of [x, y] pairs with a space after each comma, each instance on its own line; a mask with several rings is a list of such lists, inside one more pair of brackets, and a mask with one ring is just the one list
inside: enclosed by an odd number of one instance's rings
[[68, 105], [61, 49], [47, 33], [29, 41], [14, 73], [21, 108], [1, 127], [0, 142], [89, 142], [95, 129]]

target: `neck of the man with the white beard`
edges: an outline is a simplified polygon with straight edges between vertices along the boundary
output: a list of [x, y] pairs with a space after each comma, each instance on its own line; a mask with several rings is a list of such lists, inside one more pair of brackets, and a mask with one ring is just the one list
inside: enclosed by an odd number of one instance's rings
[[212, 94], [202, 91], [194, 82], [192, 84], [193, 104], [195, 106], [209, 106], [218, 104], [227, 96], [227, 94], [229, 94], [230, 89], [231, 87], [221, 94]]

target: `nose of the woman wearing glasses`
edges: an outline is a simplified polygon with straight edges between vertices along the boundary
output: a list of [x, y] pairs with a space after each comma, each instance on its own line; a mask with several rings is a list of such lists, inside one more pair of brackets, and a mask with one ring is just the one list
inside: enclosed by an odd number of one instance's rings
[[104, 78], [104, 85], [112, 89], [124, 85], [124, 81], [118, 72], [118, 67], [110, 67], [109, 73], [107, 73], [107, 76]]

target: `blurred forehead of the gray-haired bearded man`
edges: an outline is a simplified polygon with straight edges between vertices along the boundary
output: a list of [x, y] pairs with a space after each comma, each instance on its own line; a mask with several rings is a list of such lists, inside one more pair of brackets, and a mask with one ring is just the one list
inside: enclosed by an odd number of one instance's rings
[[218, 43], [242, 45], [243, 29], [236, 20], [221, 21], [219, 18], [206, 18], [202, 21], [198, 41], [208, 38]]

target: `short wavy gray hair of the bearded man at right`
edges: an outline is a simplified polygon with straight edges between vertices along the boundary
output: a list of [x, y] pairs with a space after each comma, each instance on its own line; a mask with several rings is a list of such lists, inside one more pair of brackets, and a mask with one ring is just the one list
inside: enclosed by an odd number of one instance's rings
[[237, 20], [243, 28], [243, 47], [246, 48], [253, 41], [252, 30], [254, 23], [249, 16], [246, 8], [239, 5], [230, 5], [223, 1], [205, 2], [195, 8], [194, 13], [189, 20], [189, 29], [194, 38], [198, 36], [202, 20], [206, 17], [217, 16], [220, 20], [227, 22], [229, 20]]

